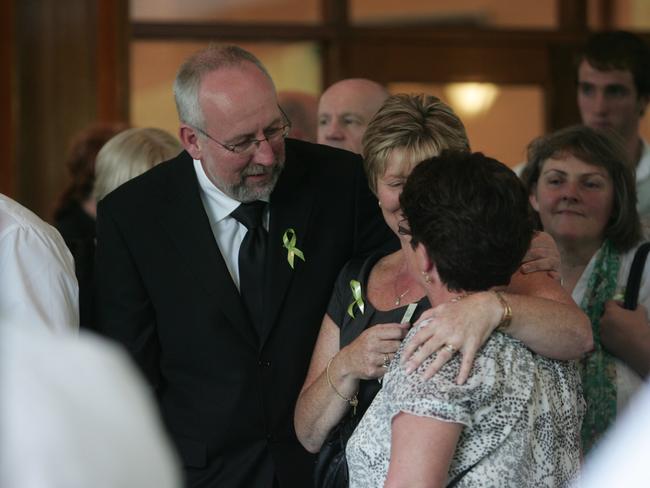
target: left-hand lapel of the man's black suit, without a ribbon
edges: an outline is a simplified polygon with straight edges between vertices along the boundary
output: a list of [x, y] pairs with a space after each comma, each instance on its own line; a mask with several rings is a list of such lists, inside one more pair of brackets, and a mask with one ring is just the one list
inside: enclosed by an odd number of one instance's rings
[[[180, 259], [215, 300], [224, 315], [251, 344], [259, 339], [242, 304], [226, 263], [221, 256], [208, 216], [199, 195], [192, 159], [185, 152], [172, 164], [164, 189], [167, 197], [159, 214], [160, 221], [177, 248]], [[221, 326], [221, 324], [215, 324]]]

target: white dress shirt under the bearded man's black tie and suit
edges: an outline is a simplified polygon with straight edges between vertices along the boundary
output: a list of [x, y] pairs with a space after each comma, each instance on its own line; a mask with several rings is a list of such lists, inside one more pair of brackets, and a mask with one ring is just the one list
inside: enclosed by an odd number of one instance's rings
[[[241, 202], [230, 198], [210, 181], [203, 170], [201, 161], [194, 160], [194, 171], [199, 180], [199, 193], [205, 212], [210, 220], [212, 233], [226, 262], [232, 281], [239, 289], [239, 248], [248, 230], [231, 214], [239, 207]], [[269, 228], [268, 222], [269, 211], [267, 206], [263, 218], [263, 224], [267, 230]]]

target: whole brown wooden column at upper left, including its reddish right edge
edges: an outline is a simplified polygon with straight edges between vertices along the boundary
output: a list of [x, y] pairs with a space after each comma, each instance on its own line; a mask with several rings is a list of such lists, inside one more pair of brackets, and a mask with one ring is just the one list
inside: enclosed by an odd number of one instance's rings
[[71, 137], [94, 122], [127, 118], [128, 0], [14, 6], [15, 198], [49, 218], [68, 181]]

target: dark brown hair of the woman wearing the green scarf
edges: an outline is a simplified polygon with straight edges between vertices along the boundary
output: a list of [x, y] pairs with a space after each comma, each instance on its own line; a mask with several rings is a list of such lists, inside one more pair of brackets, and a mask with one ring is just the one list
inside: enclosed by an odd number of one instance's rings
[[613, 131], [574, 125], [535, 139], [528, 146], [528, 162], [521, 175], [528, 193], [535, 191], [548, 159], [568, 154], [607, 171], [614, 187], [614, 202], [604, 236], [619, 252], [634, 247], [641, 239], [636, 183], [623, 141]]

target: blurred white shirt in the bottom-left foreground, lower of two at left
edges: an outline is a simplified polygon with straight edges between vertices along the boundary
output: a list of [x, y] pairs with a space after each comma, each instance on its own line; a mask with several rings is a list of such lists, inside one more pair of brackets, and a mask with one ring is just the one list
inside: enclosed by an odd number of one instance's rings
[[117, 346], [0, 324], [0, 486], [180, 488], [153, 397]]

